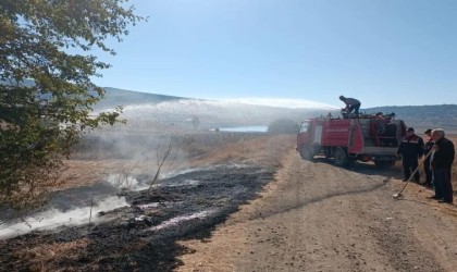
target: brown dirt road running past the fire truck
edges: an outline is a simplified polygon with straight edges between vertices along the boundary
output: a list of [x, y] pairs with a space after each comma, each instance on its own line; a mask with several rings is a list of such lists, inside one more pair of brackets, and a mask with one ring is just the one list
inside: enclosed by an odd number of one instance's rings
[[286, 157], [262, 196], [190, 252], [178, 271], [457, 271], [457, 209], [386, 181], [369, 164]]

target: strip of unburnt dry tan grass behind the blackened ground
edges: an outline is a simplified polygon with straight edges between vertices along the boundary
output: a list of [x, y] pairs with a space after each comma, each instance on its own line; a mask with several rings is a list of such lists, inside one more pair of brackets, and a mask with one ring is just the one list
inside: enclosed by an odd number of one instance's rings
[[[163, 165], [163, 174], [170, 170], [198, 168], [218, 163], [259, 163], [279, 165], [282, 156], [295, 148], [294, 135], [248, 135], [239, 133], [212, 133], [182, 136], [176, 140], [177, 157]], [[110, 174], [126, 180], [131, 174], [156, 173], [156, 151], [148, 158], [92, 158], [65, 161], [63, 185], [59, 189], [92, 185]]]

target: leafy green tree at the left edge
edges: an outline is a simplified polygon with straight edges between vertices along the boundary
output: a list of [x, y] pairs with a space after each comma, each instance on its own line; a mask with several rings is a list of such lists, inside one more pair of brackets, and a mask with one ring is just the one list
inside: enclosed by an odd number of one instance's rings
[[120, 109], [91, 116], [104, 92], [91, 78], [144, 17], [128, 0], [0, 1], [0, 206], [41, 202], [59, 183], [62, 156], [84, 132], [119, 122]]

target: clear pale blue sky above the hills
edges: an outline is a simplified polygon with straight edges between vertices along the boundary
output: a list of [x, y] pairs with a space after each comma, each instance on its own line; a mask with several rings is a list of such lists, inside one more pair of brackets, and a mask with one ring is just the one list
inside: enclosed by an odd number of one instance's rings
[[[103, 87], [343, 107], [457, 103], [454, 0], [131, 0]], [[263, 99], [265, 100], [265, 99]]]

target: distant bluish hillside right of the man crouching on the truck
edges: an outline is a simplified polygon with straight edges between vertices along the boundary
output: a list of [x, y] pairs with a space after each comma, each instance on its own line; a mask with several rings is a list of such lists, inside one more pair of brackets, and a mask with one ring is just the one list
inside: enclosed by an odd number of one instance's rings
[[376, 107], [363, 109], [362, 112], [394, 112], [397, 119], [404, 120], [418, 133], [428, 127], [457, 133], [457, 104]]

